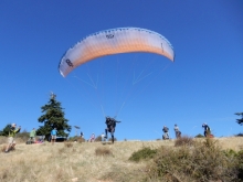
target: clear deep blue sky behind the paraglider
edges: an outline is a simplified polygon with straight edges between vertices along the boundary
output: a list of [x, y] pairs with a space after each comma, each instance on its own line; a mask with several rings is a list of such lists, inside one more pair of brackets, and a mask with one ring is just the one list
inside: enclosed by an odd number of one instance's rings
[[[165, 125], [173, 138], [175, 124], [189, 136], [203, 133], [203, 122], [216, 137], [242, 132], [234, 115], [243, 111], [242, 9], [241, 0], [1, 0], [0, 128], [10, 122], [28, 131], [41, 126], [41, 106], [52, 90], [70, 125], [80, 126], [85, 138], [101, 135], [104, 114], [113, 116], [117, 108], [123, 121], [116, 128], [118, 140], [161, 138]], [[94, 32], [126, 26], [166, 36], [175, 47], [175, 63], [152, 54], [119, 54], [78, 67], [73, 76], [60, 75], [57, 65], [68, 47]], [[148, 72], [152, 75], [136, 88], [126, 87], [128, 98], [119, 96], [118, 86], [133, 82], [150, 60], [155, 60]], [[129, 61], [139, 65], [130, 77], [126, 69], [114, 68], [117, 63], [128, 68]], [[102, 71], [99, 62], [105, 63]], [[115, 81], [117, 75], [122, 81]], [[98, 81], [99, 93], [75, 76]]]

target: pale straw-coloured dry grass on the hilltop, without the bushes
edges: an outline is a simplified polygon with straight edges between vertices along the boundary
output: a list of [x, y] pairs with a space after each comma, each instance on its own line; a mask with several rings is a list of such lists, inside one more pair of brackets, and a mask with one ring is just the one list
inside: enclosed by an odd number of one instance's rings
[[[223, 149], [237, 151], [243, 146], [240, 137], [220, 138], [219, 143]], [[173, 148], [175, 141], [120, 141], [105, 146], [101, 142], [19, 144], [17, 141], [14, 152], [0, 153], [0, 181], [137, 182], [147, 175], [147, 163], [129, 161], [129, 157], [145, 147], [161, 146]]]

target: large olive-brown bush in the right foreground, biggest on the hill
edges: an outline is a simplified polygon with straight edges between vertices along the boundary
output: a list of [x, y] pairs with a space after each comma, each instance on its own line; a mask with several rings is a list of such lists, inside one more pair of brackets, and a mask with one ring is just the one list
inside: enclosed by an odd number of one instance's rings
[[234, 156], [225, 156], [214, 141], [204, 141], [194, 142], [193, 147], [161, 147], [149, 165], [148, 176], [168, 182], [236, 181], [237, 168]]

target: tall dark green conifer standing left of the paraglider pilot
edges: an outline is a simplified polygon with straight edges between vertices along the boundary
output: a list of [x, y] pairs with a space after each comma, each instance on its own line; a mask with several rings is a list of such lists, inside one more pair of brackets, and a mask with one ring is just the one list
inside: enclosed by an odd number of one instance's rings
[[51, 136], [51, 130], [56, 128], [57, 136], [67, 137], [68, 135], [65, 131], [71, 131], [71, 126], [67, 124], [67, 119], [64, 118], [64, 111], [61, 107], [61, 103], [56, 100], [56, 95], [51, 94], [50, 100], [46, 105], [41, 107], [42, 115], [38, 120], [39, 122], [44, 124], [40, 126], [36, 130], [36, 135], [45, 136], [45, 139], [49, 139]]

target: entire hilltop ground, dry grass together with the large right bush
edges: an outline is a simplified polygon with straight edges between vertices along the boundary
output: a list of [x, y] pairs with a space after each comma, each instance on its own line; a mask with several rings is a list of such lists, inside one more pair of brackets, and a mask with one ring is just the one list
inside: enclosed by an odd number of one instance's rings
[[[232, 181], [237, 176], [239, 160], [234, 157], [242, 149], [242, 138], [193, 141], [197, 142], [178, 147], [175, 147], [175, 140], [119, 141], [105, 146], [102, 142], [25, 144], [17, 141], [13, 152], [0, 153], [0, 181], [187, 182]], [[146, 150], [140, 152], [139, 162], [128, 160], [142, 149]], [[229, 152], [229, 149], [232, 150]]]

